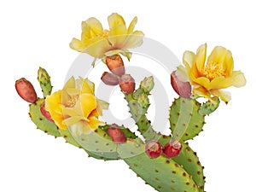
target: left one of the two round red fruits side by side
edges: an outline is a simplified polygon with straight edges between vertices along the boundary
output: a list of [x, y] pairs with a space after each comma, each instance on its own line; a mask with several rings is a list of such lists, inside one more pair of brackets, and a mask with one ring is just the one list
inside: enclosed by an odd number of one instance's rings
[[162, 149], [163, 147], [159, 142], [152, 140], [146, 144], [145, 152], [148, 154], [148, 157], [155, 159], [162, 154]]

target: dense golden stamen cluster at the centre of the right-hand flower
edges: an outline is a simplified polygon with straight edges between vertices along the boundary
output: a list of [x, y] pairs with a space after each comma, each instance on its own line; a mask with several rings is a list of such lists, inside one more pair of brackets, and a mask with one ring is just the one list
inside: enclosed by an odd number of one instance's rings
[[218, 78], [218, 77], [224, 77], [225, 72], [221, 65], [219, 65], [217, 62], [207, 63], [207, 66], [204, 69], [204, 76], [207, 77], [207, 79]]

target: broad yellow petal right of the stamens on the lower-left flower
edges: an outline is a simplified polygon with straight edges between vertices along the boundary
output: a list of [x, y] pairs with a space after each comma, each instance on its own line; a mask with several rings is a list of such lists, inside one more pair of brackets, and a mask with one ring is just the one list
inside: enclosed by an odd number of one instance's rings
[[84, 118], [87, 119], [90, 115], [90, 113], [96, 109], [97, 102], [96, 102], [96, 96], [92, 94], [82, 94], [80, 96], [80, 106], [83, 111]]

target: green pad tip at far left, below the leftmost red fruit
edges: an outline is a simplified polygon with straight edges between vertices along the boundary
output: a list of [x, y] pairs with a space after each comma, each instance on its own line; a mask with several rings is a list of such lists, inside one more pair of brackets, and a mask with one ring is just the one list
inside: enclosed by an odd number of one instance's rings
[[44, 99], [38, 99], [37, 102], [30, 104], [29, 115], [32, 122], [38, 126], [39, 130], [42, 130], [51, 136], [60, 137], [61, 135], [57, 126], [48, 119], [44, 118], [44, 115], [40, 111], [40, 106], [43, 102]]

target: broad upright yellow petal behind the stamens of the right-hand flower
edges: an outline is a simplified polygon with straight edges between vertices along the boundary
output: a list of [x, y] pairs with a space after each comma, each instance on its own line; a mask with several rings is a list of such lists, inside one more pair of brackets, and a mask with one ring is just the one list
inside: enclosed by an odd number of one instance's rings
[[225, 77], [229, 77], [234, 70], [232, 53], [230, 50], [221, 46], [217, 46], [212, 50], [212, 53], [207, 60], [207, 64], [208, 63], [218, 63], [221, 65], [225, 72]]

